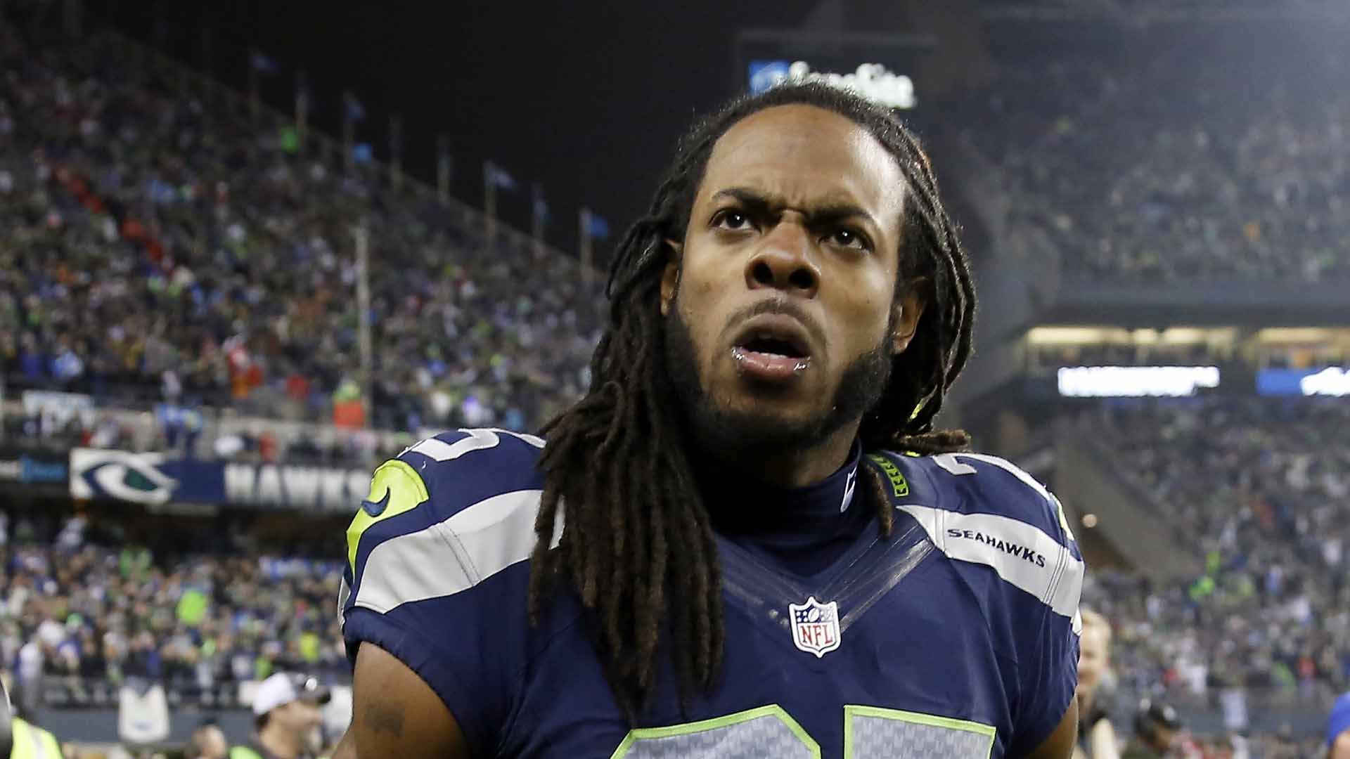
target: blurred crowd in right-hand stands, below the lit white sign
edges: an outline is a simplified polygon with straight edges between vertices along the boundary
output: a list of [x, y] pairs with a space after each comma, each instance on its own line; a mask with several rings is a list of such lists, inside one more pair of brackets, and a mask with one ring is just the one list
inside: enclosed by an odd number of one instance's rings
[[1170, 587], [1091, 573], [1084, 602], [1118, 625], [1122, 685], [1310, 704], [1350, 687], [1346, 404], [1130, 402], [1080, 421], [1206, 556]]

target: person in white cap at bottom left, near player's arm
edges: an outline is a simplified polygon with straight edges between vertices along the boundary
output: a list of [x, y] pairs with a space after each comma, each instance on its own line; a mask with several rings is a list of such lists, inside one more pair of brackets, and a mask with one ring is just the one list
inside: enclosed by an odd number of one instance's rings
[[262, 681], [254, 696], [256, 732], [244, 745], [230, 750], [230, 759], [310, 759], [327, 687], [313, 678], [277, 673]]

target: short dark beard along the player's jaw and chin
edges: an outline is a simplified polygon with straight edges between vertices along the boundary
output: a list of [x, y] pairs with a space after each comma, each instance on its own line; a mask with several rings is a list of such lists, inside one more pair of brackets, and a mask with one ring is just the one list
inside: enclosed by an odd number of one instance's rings
[[714, 452], [805, 451], [880, 402], [891, 378], [892, 328], [894, 324], [887, 324], [882, 342], [844, 367], [829, 405], [805, 419], [783, 419], [764, 409], [733, 409], [720, 404], [699, 380], [698, 351], [680, 315], [678, 296], [666, 319], [666, 371], [690, 434], [701, 447]]

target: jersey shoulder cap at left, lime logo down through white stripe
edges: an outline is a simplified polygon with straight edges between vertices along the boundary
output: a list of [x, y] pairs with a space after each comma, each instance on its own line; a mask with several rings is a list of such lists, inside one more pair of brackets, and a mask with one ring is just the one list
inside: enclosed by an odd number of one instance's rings
[[524, 562], [535, 547], [543, 447], [533, 435], [458, 429], [375, 469], [347, 528], [343, 610], [385, 613], [452, 596]]

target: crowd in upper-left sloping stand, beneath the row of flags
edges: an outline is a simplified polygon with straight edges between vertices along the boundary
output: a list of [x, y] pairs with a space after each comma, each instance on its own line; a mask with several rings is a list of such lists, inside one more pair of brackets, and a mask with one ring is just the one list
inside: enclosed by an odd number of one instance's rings
[[[185, 97], [112, 38], [0, 26], [0, 366], [105, 402], [528, 428], [579, 393], [597, 292], [371, 166]], [[139, 61], [139, 62], [138, 62]], [[352, 223], [370, 230], [362, 388]]]

